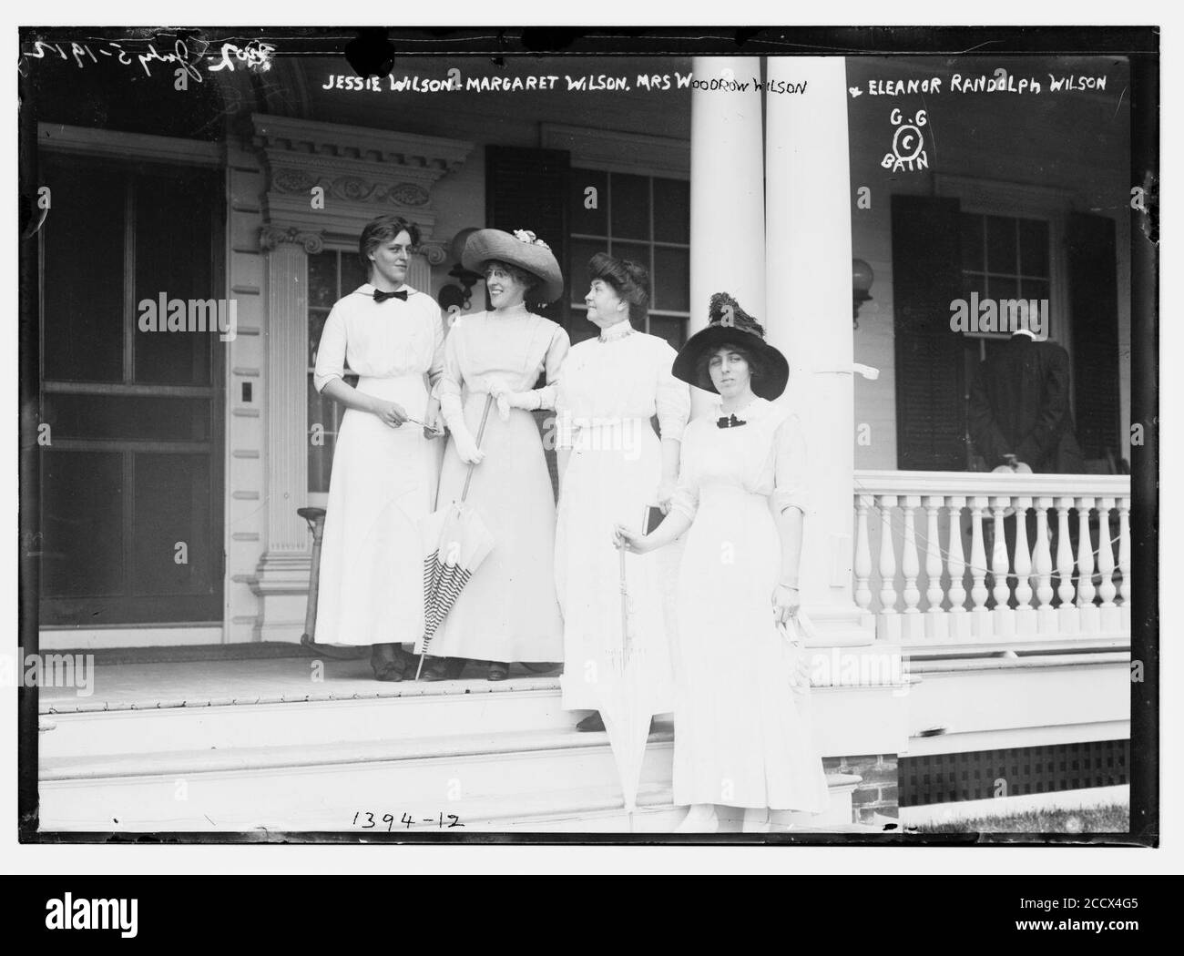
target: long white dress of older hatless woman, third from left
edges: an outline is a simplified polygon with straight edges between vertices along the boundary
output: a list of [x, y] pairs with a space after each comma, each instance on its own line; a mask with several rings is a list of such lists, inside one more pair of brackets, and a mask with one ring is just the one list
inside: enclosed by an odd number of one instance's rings
[[[690, 394], [670, 373], [675, 350], [628, 322], [572, 347], [555, 398], [558, 443], [571, 447], [555, 531], [555, 589], [564, 613], [564, 708], [598, 710], [622, 642], [619, 551], [614, 524], [641, 530], [657, 504], [663, 439], [681, 439]], [[676, 555], [626, 555], [633, 654], [642, 668], [636, 702], [650, 713], [674, 709], [667, 613]]]

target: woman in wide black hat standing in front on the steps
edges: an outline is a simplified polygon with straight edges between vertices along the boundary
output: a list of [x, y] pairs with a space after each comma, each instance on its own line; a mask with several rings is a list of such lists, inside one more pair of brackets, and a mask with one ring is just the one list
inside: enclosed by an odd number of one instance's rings
[[718, 828], [716, 806], [745, 808], [746, 829], [770, 810], [819, 812], [822, 761], [810, 739], [793, 627], [805, 515], [805, 451], [797, 419], [774, 403], [785, 356], [727, 293], [678, 353], [674, 374], [715, 392], [719, 408], [682, 441], [678, 489], [649, 534], [618, 525], [645, 554], [688, 531], [674, 645], [674, 799], [684, 832]]

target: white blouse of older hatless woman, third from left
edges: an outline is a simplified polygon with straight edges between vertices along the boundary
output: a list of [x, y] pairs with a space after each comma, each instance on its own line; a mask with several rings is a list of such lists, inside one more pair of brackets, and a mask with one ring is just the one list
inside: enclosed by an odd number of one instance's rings
[[[670, 370], [677, 353], [656, 335], [630, 332], [628, 323], [613, 325], [605, 340], [572, 345], [555, 386], [556, 416], [578, 428], [657, 415], [662, 438], [682, 439], [690, 388]], [[562, 435], [571, 434], [560, 429], [560, 444], [570, 444]]]

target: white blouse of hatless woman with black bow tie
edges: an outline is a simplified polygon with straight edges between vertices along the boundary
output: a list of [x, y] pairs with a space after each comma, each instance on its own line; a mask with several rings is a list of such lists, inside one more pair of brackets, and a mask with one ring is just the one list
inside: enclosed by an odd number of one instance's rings
[[363, 377], [429, 376], [436, 385], [444, 369], [440, 308], [426, 292], [408, 285], [407, 301], [374, 301], [374, 286], [358, 286], [334, 304], [316, 351], [313, 385], [317, 392], [346, 368]]

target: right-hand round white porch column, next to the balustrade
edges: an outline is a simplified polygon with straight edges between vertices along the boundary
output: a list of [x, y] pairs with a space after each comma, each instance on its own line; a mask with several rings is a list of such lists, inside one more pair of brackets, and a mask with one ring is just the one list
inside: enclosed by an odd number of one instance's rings
[[765, 93], [768, 311], [755, 314], [790, 360], [783, 401], [797, 411], [806, 437], [802, 602], [823, 644], [869, 644], [874, 629], [861, 621], [851, 596], [855, 385], [845, 62], [770, 57], [767, 63], [771, 84], [785, 80], [803, 90]]

